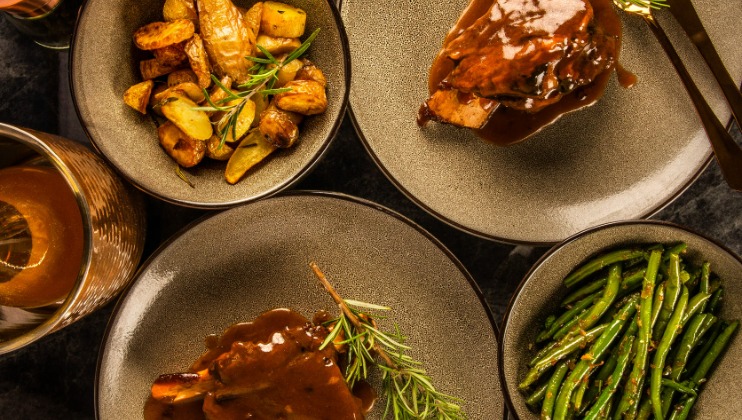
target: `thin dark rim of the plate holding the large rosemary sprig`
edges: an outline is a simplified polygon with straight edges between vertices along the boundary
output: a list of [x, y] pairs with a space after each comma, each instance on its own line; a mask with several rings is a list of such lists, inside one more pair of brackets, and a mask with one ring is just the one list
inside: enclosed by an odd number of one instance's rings
[[[487, 320], [489, 321], [489, 326], [492, 329], [493, 335], [495, 337], [495, 342], [492, 343], [494, 345], [494, 350], [497, 353], [497, 359], [495, 361], [495, 365], [498, 366], [499, 369], [499, 351], [500, 351], [500, 323], [497, 321], [497, 318], [494, 316], [494, 313], [492, 309], [487, 304], [487, 301], [484, 297], [484, 294], [482, 293], [482, 290], [480, 289], [479, 285], [474, 280], [474, 277], [469, 273], [469, 271], [466, 269], [463, 263], [456, 257], [453, 252], [451, 252], [444, 244], [441, 242], [438, 238], [433, 236], [430, 232], [425, 230], [422, 226], [420, 226], [418, 223], [416, 223], [414, 220], [410, 219], [409, 217], [392, 210], [382, 204], [376, 203], [374, 201], [353, 196], [346, 193], [341, 192], [335, 192], [335, 191], [324, 191], [324, 190], [292, 190], [292, 191], [286, 191], [283, 193], [280, 193], [278, 195], [275, 195], [270, 198], [266, 198], [263, 200], [259, 200], [255, 202], [254, 204], [264, 204], [265, 202], [268, 202], [270, 200], [278, 200], [283, 198], [311, 198], [311, 197], [321, 197], [328, 200], [340, 200], [345, 202], [350, 202], [352, 204], [365, 206], [367, 208], [379, 211], [386, 216], [391, 216], [397, 221], [400, 221], [402, 223], [405, 223], [409, 227], [413, 228], [417, 233], [422, 234], [424, 238], [426, 238], [428, 241], [430, 241], [433, 245], [436, 246], [440, 251], [443, 252], [443, 254], [454, 264], [454, 266], [461, 272], [461, 274], [464, 276], [466, 281], [469, 284], [469, 287], [471, 288], [472, 292], [474, 292], [475, 296], [479, 300], [480, 305], [482, 306], [482, 309], [484, 310]], [[105, 331], [103, 333], [103, 337], [100, 341], [100, 349], [98, 351], [98, 357], [97, 362], [95, 366], [95, 385], [93, 389], [93, 405], [95, 410], [95, 418], [100, 419], [100, 396], [101, 396], [101, 372], [102, 367], [104, 363], [104, 358], [110, 351], [107, 347], [107, 344], [109, 342], [109, 339], [113, 333], [112, 327], [113, 324], [117, 321], [121, 311], [123, 310], [124, 301], [126, 300], [126, 297], [129, 295], [129, 292], [131, 289], [135, 286], [135, 284], [139, 283], [141, 280], [141, 276], [150, 268], [150, 266], [154, 263], [154, 261], [166, 250], [169, 249], [171, 245], [176, 243], [183, 235], [185, 235], [187, 232], [189, 232], [192, 228], [207, 222], [209, 219], [217, 217], [221, 215], [222, 213], [229, 212], [229, 211], [237, 211], [238, 209], [242, 207], [248, 207], [253, 203], [246, 203], [242, 204], [236, 207], [232, 207], [230, 209], [226, 209], [223, 211], [217, 211], [213, 213], [207, 213], [202, 215], [201, 217], [193, 220], [192, 222], [188, 223], [186, 226], [175, 232], [173, 235], [171, 235], [169, 238], [167, 238], [165, 241], [163, 241], [153, 252], [150, 254], [147, 259], [142, 262], [142, 264], [139, 266], [137, 271], [133, 274], [132, 280], [129, 282], [129, 284], [126, 286], [125, 289], [123, 289], [116, 299], [116, 303], [113, 307], [113, 310], [111, 312], [111, 315], [108, 318], [108, 321], [106, 323]], [[500, 378], [497, 378], [497, 381], [499, 382], [500, 387], [502, 388], [502, 381]], [[505, 401], [504, 392], [501, 389], [501, 398], [503, 400], [502, 409], [503, 409], [503, 418], [507, 418], [507, 412], [508, 412], [508, 406], [507, 402]], [[497, 398], [497, 395], [494, 396]]]

